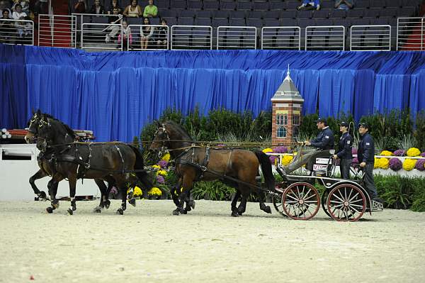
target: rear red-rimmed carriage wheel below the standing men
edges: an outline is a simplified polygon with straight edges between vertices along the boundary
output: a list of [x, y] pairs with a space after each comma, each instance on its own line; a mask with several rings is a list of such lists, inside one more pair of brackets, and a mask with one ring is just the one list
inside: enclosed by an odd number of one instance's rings
[[340, 184], [329, 192], [327, 209], [336, 221], [358, 221], [366, 210], [365, 194], [352, 184]]

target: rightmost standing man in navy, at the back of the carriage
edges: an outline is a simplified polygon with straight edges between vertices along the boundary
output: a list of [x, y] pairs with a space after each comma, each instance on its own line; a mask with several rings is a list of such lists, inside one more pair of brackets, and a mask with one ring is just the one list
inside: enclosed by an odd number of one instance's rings
[[382, 202], [378, 199], [378, 192], [373, 182], [373, 165], [375, 164], [375, 145], [373, 144], [373, 137], [369, 134], [369, 126], [367, 123], [358, 124], [358, 133], [361, 135], [361, 141], [358, 143], [357, 158], [360, 167], [365, 172], [364, 182], [370, 197], [374, 201]]

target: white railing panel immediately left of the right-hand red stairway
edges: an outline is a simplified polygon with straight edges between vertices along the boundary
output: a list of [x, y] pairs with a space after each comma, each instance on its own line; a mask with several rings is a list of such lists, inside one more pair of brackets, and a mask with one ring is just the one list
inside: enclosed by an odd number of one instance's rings
[[350, 51], [391, 51], [391, 26], [351, 26]]

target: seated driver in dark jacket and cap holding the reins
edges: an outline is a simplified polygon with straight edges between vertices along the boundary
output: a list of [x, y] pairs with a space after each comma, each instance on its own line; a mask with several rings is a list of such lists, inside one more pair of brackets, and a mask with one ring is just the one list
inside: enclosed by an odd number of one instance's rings
[[317, 157], [330, 157], [331, 152], [329, 150], [334, 149], [334, 133], [329, 128], [327, 121], [323, 118], [319, 118], [316, 121], [317, 128], [320, 130], [319, 135], [317, 135], [314, 140], [305, 141], [305, 145], [310, 145], [315, 149], [311, 150], [302, 150], [298, 152], [295, 160], [290, 163], [288, 166], [282, 167], [285, 174], [290, 174], [300, 168], [302, 165], [307, 164], [307, 170], [312, 172], [313, 164]]

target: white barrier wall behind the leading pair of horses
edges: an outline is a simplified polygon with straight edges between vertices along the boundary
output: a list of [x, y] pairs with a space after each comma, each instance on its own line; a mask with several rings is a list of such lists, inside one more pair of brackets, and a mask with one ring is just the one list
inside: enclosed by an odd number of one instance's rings
[[[0, 201], [32, 200], [35, 197], [29, 179], [39, 170], [37, 163], [38, 149], [35, 145], [0, 145]], [[28, 156], [30, 160], [5, 160], [8, 156]], [[35, 181], [40, 191], [47, 194], [47, 182], [50, 177]], [[100, 196], [96, 183], [91, 179], [77, 182], [77, 196]], [[66, 180], [60, 182], [57, 196], [69, 196]]]

